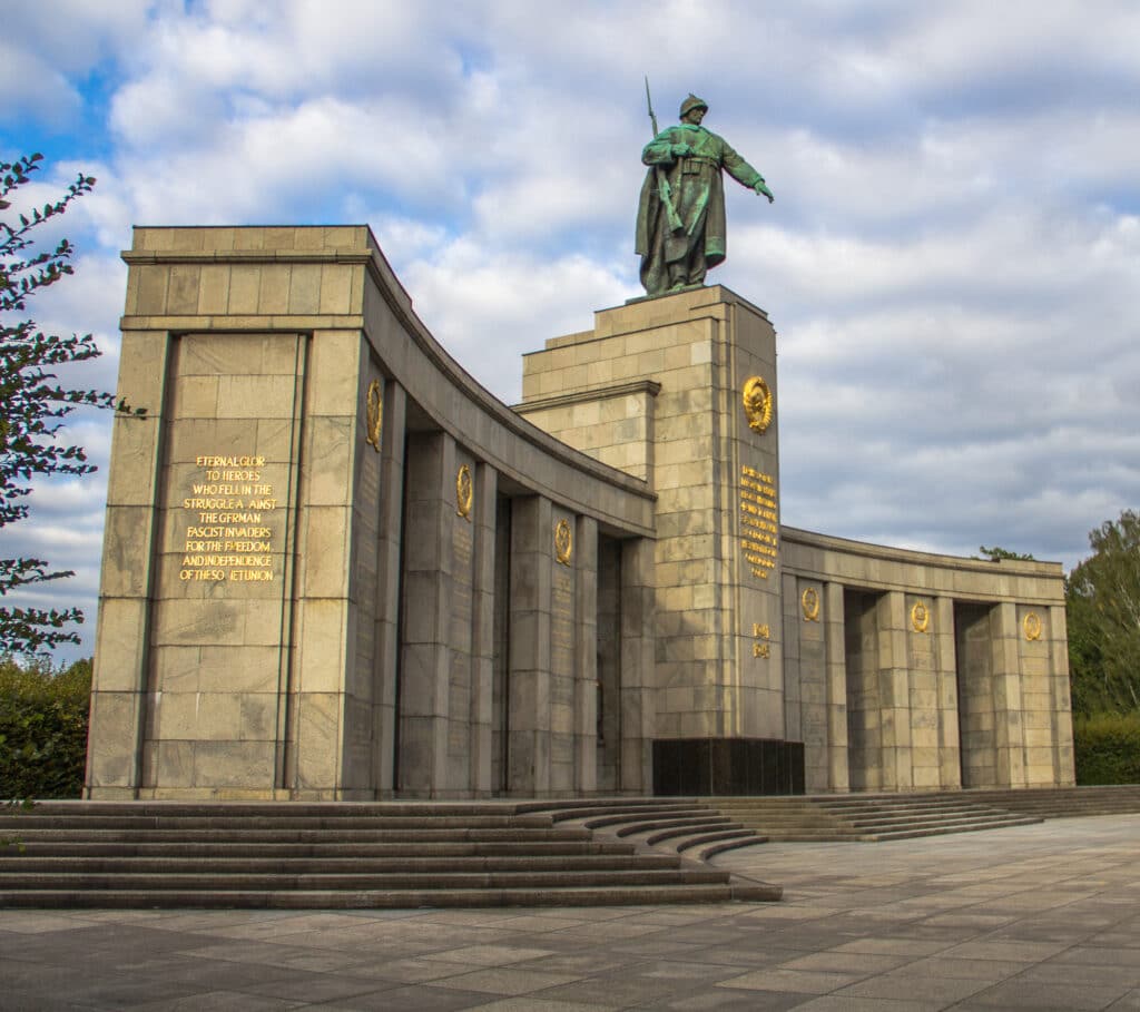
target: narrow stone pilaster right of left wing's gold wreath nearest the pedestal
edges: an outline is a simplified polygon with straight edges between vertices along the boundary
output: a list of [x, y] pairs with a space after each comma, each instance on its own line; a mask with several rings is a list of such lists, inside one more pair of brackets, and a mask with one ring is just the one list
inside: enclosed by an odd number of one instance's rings
[[597, 790], [597, 521], [579, 516], [575, 534], [575, 791]]

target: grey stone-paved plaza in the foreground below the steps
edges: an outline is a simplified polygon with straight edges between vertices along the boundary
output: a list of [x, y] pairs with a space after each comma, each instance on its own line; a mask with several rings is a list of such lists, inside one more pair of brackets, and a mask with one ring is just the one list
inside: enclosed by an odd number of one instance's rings
[[784, 901], [0, 909], [0, 1007], [1140, 1012], [1140, 816], [715, 864]]

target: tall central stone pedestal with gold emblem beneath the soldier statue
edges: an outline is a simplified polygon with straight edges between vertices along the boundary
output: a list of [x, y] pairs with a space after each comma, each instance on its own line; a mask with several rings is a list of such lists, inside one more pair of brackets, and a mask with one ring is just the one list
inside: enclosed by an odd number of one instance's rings
[[604, 310], [593, 330], [526, 357], [523, 398], [529, 421], [657, 493], [653, 736], [783, 741], [779, 394], [764, 310], [719, 286]]

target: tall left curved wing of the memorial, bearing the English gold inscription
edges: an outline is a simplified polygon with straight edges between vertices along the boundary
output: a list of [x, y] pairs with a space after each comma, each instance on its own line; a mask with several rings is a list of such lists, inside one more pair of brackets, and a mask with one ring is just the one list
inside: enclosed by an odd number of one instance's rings
[[[119, 392], [148, 414], [115, 422], [88, 795], [470, 797], [504, 764], [593, 790], [597, 540], [652, 536], [644, 482], [479, 387], [367, 228], [144, 228], [124, 259]], [[547, 525], [500, 538], [514, 503]], [[500, 547], [524, 536], [530, 565]]]

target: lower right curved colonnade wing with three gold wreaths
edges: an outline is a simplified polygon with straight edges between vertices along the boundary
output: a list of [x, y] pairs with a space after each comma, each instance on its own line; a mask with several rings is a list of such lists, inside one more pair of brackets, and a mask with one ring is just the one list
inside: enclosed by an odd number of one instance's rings
[[782, 536], [785, 712], [809, 791], [1074, 782], [1059, 565]]

